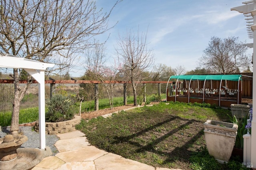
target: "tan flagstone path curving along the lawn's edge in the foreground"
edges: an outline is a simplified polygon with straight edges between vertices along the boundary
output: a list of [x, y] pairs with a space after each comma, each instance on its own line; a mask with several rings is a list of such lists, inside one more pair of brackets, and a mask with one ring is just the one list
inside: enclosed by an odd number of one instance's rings
[[59, 153], [47, 156], [32, 170], [170, 170], [158, 168], [100, 150], [86, 140], [84, 133], [73, 131], [57, 135]]

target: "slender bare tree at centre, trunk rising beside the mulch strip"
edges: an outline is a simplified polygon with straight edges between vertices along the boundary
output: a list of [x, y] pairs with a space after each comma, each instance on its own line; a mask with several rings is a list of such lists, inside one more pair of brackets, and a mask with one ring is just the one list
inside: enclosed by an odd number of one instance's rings
[[132, 83], [132, 90], [134, 96], [134, 106], [137, 105], [136, 86], [137, 81], [143, 79], [142, 72], [149, 69], [154, 63], [154, 53], [152, 49], [147, 48], [147, 33], [138, 31], [126, 31], [125, 36], [120, 36], [117, 39], [116, 54], [119, 63], [122, 63], [121, 71], [128, 76]]

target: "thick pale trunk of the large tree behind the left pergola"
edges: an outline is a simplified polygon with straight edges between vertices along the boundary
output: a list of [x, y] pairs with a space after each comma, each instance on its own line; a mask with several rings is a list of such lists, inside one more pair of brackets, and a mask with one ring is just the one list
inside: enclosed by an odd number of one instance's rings
[[14, 100], [12, 102], [12, 122], [10, 126], [10, 134], [18, 134], [19, 130], [19, 114], [20, 114], [20, 83], [18, 69], [13, 69], [14, 76]]

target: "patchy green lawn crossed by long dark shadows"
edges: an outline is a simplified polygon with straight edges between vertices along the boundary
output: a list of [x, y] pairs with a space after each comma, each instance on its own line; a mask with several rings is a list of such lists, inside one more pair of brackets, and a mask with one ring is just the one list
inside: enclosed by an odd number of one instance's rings
[[207, 119], [229, 121], [228, 115], [230, 110], [207, 104], [161, 102], [82, 121], [76, 128], [99, 149], [155, 167], [233, 170], [242, 161], [231, 158], [218, 164], [208, 154], [203, 131]]

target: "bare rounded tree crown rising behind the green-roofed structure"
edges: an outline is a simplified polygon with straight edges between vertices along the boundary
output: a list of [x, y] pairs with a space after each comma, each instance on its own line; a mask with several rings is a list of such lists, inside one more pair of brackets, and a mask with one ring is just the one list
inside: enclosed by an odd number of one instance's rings
[[247, 50], [244, 43], [238, 41], [238, 37], [220, 39], [212, 37], [204, 55], [200, 58], [200, 64], [213, 73], [234, 73], [240, 69], [248, 68], [250, 60], [245, 55]]

